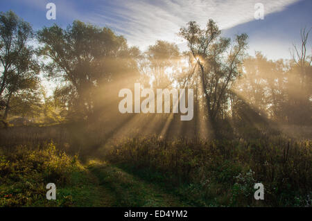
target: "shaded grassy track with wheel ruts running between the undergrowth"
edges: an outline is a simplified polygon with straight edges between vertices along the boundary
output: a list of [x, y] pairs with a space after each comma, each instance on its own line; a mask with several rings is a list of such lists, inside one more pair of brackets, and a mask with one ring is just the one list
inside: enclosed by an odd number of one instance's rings
[[108, 163], [93, 163], [88, 170], [101, 192], [94, 206], [187, 206], [175, 195]]

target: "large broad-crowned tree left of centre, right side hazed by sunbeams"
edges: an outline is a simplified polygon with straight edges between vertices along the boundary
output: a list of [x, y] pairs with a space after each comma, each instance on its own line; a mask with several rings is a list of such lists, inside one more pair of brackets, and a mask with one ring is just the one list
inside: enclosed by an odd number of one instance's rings
[[125, 38], [115, 35], [110, 28], [73, 21], [65, 30], [56, 24], [44, 27], [37, 38], [43, 44], [41, 55], [51, 59], [45, 64], [46, 73], [65, 82], [55, 96], [62, 96], [59, 100], [64, 100], [71, 115], [79, 118], [94, 114], [100, 85], [122, 78], [127, 82], [126, 75], [137, 69], [134, 58], [139, 50], [128, 48]]

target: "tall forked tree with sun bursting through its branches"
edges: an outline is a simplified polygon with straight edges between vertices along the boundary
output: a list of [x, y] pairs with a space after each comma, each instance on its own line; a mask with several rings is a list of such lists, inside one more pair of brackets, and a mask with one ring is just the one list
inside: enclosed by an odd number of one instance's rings
[[213, 124], [222, 114], [221, 107], [227, 102], [227, 91], [241, 74], [248, 38], [246, 34], [237, 35], [235, 44], [231, 45], [230, 39], [220, 37], [220, 34], [221, 31], [211, 19], [204, 29], [196, 21], [190, 21], [179, 33], [187, 40], [193, 59], [198, 64], [202, 97], [205, 98], [207, 114]]

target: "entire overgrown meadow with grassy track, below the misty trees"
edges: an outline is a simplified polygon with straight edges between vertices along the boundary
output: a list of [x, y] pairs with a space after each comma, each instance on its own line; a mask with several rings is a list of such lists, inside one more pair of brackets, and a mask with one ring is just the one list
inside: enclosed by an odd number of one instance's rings
[[[98, 134], [57, 128], [1, 136], [0, 206], [311, 206], [309, 139], [139, 136], [101, 145]], [[57, 200], [49, 201], [51, 182]], [[265, 200], [254, 200], [257, 182]]]

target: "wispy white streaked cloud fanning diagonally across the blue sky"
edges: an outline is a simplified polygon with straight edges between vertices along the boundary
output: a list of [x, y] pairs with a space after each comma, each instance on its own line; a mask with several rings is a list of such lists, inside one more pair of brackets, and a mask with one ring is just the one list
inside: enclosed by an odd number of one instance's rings
[[[262, 0], [265, 15], [284, 10], [299, 0]], [[116, 0], [99, 5], [92, 16], [96, 24], [106, 24], [125, 35], [130, 44], [141, 48], [155, 39], [177, 40], [175, 35], [188, 21], [205, 26], [214, 19], [220, 28], [232, 28], [254, 19], [259, 0]], [[90, 17], [89, 17], [90, 19]]]

